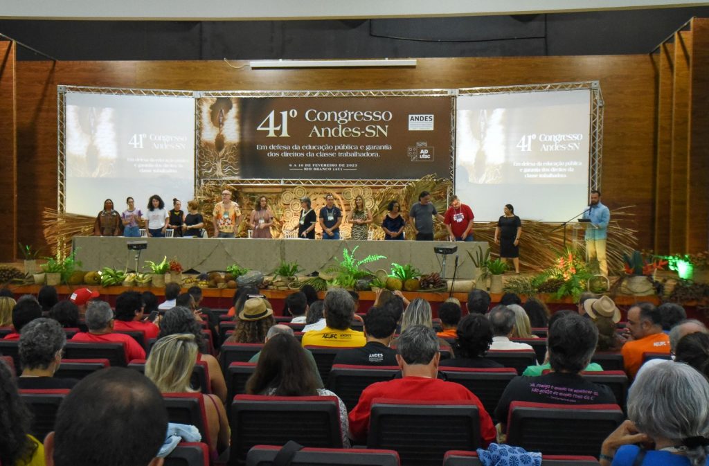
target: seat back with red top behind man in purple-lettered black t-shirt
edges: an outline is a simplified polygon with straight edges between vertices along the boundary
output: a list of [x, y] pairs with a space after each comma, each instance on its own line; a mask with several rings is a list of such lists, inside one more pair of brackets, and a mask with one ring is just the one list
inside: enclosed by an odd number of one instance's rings
[[625, 420], [617, 404], [545, 404], [513, 401], [507, 443], [545, 455], [597, 455]]

